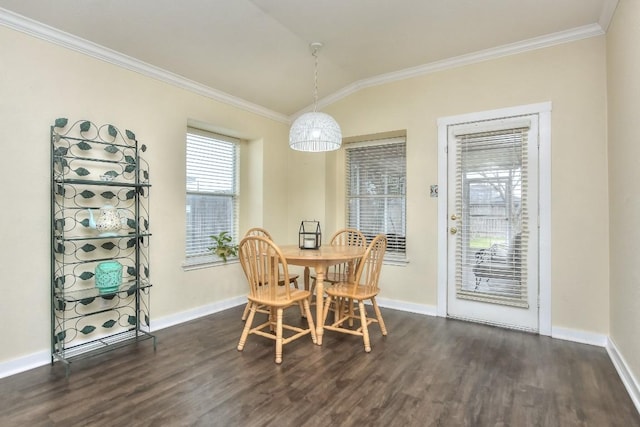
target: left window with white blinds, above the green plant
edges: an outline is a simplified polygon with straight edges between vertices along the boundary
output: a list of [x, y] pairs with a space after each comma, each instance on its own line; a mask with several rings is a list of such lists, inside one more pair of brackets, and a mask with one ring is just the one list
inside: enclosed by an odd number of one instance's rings
[[187, 129], [186, 265], [218, 261], [211, 236], [237, 242], [239, 140]]

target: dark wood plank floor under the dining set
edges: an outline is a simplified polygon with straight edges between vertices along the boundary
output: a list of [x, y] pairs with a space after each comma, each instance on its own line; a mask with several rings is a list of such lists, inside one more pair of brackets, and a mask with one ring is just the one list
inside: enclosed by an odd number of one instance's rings
[[[599, 347], [383, 309], [389, 335], [236, 350], [243, 307], [0, 380], [0, 426], [640, 426]], [[290, 318], [299, 319], [296, 308]]]

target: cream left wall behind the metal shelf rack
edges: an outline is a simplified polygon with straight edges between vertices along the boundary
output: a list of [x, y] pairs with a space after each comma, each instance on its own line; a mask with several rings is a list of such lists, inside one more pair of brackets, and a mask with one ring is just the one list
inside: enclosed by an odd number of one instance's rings
[[181, 266], [187, 121], [249, 141], [242, 161], [253, 170], [242, 175], [247, 214], [241, 232], [264, 217], [273, 228], [287, 228], [281, 214], [287, 195], [278, 189], [287, 185], [288, 125], [5, 27], [0, 45], [0, 363], [46, 352], [50, 345], [49, 126], [57, 117], [131, 129], [149, 148], [152, 326], [153, 319], [243, 295], [238, 264], [188, 272]]

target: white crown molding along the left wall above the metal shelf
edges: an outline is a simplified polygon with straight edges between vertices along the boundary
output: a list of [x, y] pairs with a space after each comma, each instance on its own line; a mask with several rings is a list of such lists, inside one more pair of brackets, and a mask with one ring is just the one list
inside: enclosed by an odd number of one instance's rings
[[253, 104], [237, 98], [228, 93], [210, 88], [183, 76], [147, 64], [115, 50], [90, 42], [64, 31], [45, 25], [41, 22], [0, 8], [0, 25], [12, 28], [33, 37], [57, 44], [67, 49], [75, 50], [82, 54], [108, 62], [110, 64], [135, 71], [144, 76], [169, 83], [173, 86], [186, 89], [207, 98], [240, 108], [251, 113], [272, 119], [278, 122], [289, 123], [289, 117], [260, 105]]

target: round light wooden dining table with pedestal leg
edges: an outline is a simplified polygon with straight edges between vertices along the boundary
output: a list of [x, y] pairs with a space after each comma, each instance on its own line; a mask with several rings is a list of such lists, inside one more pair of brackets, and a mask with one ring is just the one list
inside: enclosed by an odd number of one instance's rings
[[[317, 344], [322, 345], [323, 305], [324, 305], [324, 275], [329, 266], [343, 262], [355, 263], [365, 252], [360, 246], [320, 246], [318, 249], [300, 249], [298, 245], [280, 246], [280, 250], [287, 260], [287, 264], [305, 267], [304, 286], [309, 289], [309, 269], [316, 273], [316, 335]], [[349, 271], [353, 273], [353, 268]]]

